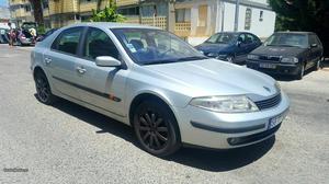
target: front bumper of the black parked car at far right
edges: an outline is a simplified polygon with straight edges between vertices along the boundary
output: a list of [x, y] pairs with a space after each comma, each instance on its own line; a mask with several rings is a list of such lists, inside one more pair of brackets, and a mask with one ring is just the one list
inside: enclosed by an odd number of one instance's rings
[[292, 64], [280, 64], [280, 62], [269, 62], [275, 65], [275, 69], [261, 68], [260, 61], [247, 60], [247, 67], [262, 71], [269, 74], [297, 74], [299, 71], [299, 65]]

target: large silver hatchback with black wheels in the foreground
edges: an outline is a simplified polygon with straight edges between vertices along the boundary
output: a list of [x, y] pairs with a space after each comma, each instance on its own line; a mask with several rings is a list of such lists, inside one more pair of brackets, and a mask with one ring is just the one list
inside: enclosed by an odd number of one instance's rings
[[290, 102], [271, 77], [209, 59], [151, 26], [83, 23], [31, 54], [37, 97], [61, 97], [132, 126], [143, 149], [237, 148], [270, 138]]

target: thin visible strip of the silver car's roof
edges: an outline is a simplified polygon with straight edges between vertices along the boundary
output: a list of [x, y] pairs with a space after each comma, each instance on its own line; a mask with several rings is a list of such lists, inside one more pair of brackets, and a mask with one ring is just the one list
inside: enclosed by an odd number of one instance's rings
[[72, 26], [98, 26], [98, 27], [103, 27], [103, 28], [154, 28], [154, 30], [160, 30], [159, 27], [149, 26], [149, 25], [131, 24], [131, 23], [114, 23], [114, 22], [78, 23], [78, 24], [72, 24], [68, 27], [72, 27]]

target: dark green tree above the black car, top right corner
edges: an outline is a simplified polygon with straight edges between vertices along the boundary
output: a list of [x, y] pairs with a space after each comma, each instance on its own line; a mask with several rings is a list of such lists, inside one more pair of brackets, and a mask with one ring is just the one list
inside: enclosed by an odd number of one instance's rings
[[[276, 12], [276, 31], [315, 32], [329, 56], [329, 0], [269, 0]], [[328, 49], [327, 49], [328, 48]]]

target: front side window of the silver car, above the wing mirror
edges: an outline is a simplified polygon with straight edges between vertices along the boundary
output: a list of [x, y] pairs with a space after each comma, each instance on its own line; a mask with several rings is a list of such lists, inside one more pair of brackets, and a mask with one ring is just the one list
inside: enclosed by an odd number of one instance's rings
[[86, 36], [83, 57], [95, 59], [99, 56], [112, 56], [118, 59], [118, 50], [105, 32], [90, 27]]

